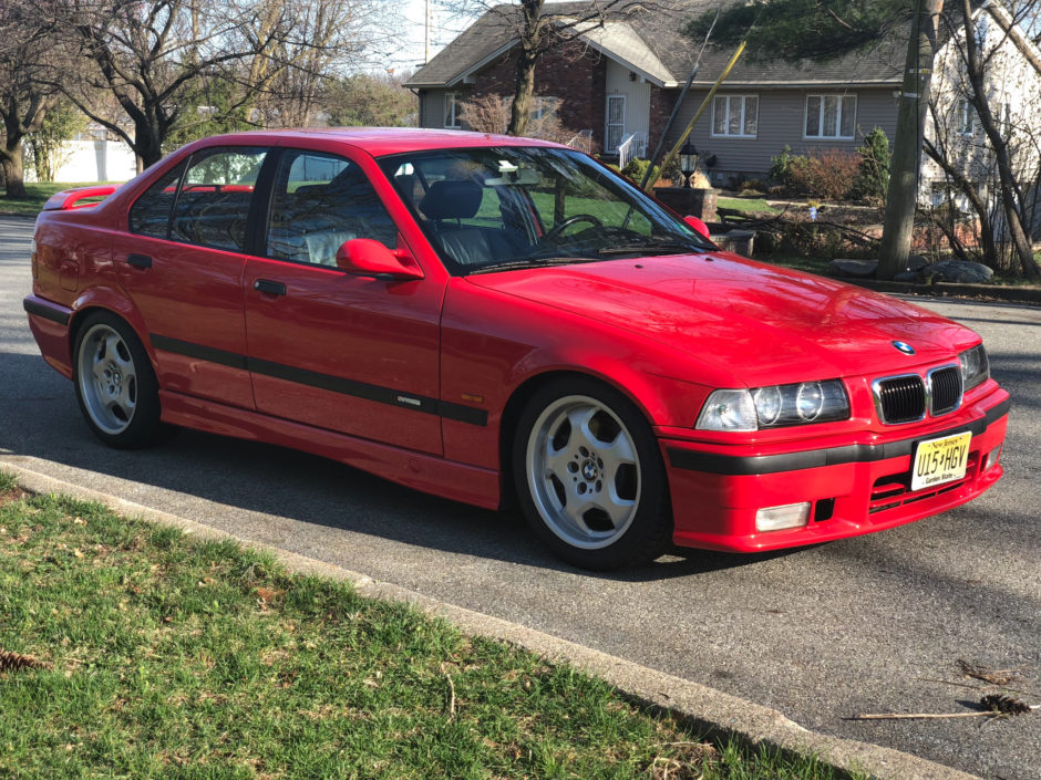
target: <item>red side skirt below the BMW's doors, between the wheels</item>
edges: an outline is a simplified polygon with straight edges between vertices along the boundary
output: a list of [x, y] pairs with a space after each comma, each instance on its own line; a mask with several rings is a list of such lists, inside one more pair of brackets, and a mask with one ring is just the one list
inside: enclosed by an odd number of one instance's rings
[[338, 460], [415, 490], [498, 509], [499, 472], [433, 455], [268, 417], [213, 401], [159, 391], [163, 422], [220, 436], [264, 441]]

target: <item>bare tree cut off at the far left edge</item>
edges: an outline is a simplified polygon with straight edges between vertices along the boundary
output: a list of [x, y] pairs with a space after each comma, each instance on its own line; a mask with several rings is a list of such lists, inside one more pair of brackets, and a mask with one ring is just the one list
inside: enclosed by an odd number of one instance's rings
[[40, 129], [47, 112], [58, 101], [49, 75], [54, 44], [49, 27], [14, 3], [0, 6], [0, 167], [7, 197], [23, 198], [22, 142]]

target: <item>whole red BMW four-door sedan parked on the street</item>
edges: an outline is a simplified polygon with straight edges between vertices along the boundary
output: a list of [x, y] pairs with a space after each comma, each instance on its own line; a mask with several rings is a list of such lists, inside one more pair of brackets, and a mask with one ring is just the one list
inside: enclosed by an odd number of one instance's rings
[[1001, 477], [976, 333], [695, 225], [546, 142], [241, 133], [51, 198], [24, 308], [110, 446], [185, 426], [516, 502], [579, 566], [868, 533]]

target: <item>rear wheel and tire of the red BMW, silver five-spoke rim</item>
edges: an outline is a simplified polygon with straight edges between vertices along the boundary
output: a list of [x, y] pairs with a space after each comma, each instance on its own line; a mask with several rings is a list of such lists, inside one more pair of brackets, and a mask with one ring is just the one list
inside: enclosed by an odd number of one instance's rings
[[158, 382], [141, 340], [109, 312], [89, 314], [76, 333], [73, 382], [80, 410], [110, 447], [146, 447], [161, 438]]

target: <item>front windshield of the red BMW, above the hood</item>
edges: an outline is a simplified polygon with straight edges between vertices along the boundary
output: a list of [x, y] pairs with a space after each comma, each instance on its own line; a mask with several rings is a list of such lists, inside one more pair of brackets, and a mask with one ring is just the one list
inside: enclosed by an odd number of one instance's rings
[[570, 149], [437, 149], [379, 163], [456, 275], [712, 249], [638, 188]]

